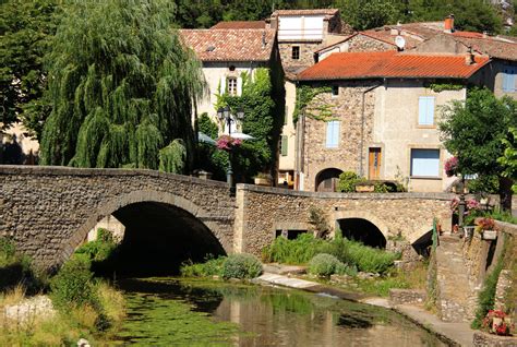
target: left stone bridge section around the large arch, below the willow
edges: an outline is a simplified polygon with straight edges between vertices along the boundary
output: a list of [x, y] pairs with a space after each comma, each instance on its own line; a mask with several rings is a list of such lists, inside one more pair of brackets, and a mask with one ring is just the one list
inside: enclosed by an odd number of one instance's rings
[[144, 201], [191, 213], [232, 252], [235, 199], [226, 183], [151, 170], [0, 166], [0, 236], [49, 267], [104, 216]]

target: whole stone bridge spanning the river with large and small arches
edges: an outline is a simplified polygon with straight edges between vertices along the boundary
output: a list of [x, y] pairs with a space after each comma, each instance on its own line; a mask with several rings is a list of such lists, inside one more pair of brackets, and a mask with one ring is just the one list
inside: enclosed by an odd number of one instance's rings
[[[297, 192], [152, 170], [0, 166], [0, 235], [12, 237], [36, 262], [59, 265], [105, 216], [125, 227], [145, 256], [249, 252], [260, 255], [275, 236], [310, 229], [310, 210], [324, 212], [332, 227], [368, 220], [384, 238], [414, 242], [436, 217], [450, 225], [452, 194], [342, 194]], [[123, 243], [124, 243], [123, 242]]]

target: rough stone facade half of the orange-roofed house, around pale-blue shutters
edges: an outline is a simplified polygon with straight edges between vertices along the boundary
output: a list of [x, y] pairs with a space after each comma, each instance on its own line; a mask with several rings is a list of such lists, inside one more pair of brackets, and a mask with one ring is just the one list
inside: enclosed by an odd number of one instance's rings
[[[364, 117], [362, 113], [362, 94], [374, 86], [374, 82], [340, 82], [339, 95], [332, 93], [317, 95], [308, 106], [308, 113], [320, 115], [322, 107], [329, 110], [328, 120], [339, 120], [339, 143], [337, 148], [326, 147], [326, 121], [305, 118], [304, 132], [304, 189], [315, 190], [315, 179], [318, 172], [327, 168], [342, 171], [360, 171], [361, 157], [363, 175], [368, 163], [368, 143], [372, 141], [374, 93], [364, 95]], [[327, 85], [330, 86], [330, 85]], [[364, 122], [364, 124], [363, 124]], [[361, 146], [362, 137], [362, 148]]]

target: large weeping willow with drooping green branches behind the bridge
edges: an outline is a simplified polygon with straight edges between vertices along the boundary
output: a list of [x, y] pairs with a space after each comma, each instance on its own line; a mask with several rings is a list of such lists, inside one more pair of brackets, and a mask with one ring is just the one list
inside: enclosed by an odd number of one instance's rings
[[41, 163], [183, 171], [204, 80], [171, 31], [173, 2], [71, 2], [46, 57], [52, 112]]

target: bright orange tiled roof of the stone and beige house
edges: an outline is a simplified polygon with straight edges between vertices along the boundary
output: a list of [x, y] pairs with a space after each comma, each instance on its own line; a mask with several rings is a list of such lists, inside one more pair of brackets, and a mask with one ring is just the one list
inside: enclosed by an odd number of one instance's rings
[[467, 64], [465, 56], [409, 55], [396, 51], [333, 53], [298, 74], [299, 81], [364, 79], [468, 79], [488, 63], [476, 57]]

